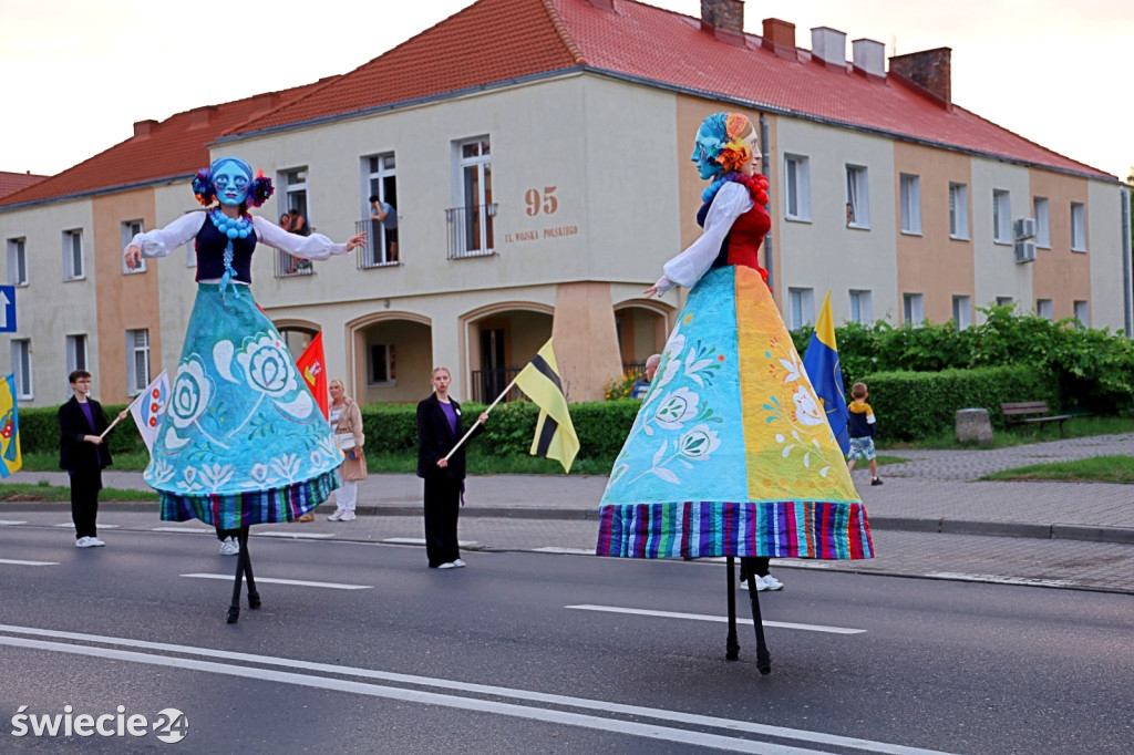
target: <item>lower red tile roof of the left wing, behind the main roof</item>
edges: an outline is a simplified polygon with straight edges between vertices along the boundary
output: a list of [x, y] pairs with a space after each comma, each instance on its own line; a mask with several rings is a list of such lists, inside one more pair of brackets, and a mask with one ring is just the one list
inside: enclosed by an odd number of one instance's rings
[[295, 100], [331, 79], [195, 108], [160, 124], [135, 124], [135, 135], [34, 186], [0, 197], [0, 209], [67, 196], [124, 190], [181, 176], [209, 164], [209, 144], [226, 129]]

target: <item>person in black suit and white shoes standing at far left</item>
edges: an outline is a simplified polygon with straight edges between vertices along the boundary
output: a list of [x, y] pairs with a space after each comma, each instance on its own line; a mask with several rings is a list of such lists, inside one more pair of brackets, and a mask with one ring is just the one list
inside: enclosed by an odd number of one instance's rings
[[[107, 415], [101, 404], [87, 397], [91, 373], [76, 370], [68, 379], [75, 395], [59, 407], [59, 466], [70, 473], [75, 544], [78, 548], [105, 545], [99, 540], [95, 519], [99, 517], [102, 468], [110, 466], [110, 449], [102, 442]], [[83, 405], [90, 408], [90, 417]]]

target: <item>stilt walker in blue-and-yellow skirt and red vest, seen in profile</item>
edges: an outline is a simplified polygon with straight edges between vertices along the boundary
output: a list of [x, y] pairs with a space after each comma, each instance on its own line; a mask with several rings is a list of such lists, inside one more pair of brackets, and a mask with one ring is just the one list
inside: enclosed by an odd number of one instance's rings
[[[771, 220], [750, 120], [716, 113], [692, 160], [711, 180], [702, 236], [644, 291], [693, 289], [662, 353], [600, 507], [599, 555], [742, 559], [770, 670], [753, 578], [772, 557], [873, 555], [862, 501], [768, 288], [758, 252]], [[727, 656], [735, 659], [735, 623]]]

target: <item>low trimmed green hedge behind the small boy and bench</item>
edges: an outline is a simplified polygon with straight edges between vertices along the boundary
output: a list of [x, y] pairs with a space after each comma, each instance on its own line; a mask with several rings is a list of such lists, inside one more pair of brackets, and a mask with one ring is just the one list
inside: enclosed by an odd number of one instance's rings
[[[997, 427], [1004, 427], [1001, 402], [1058, 404], [1058, 379], [1032, 366], [980, 367], [942, 372], [879, 372], [866, 375], [878, 417], [877, 440], [916, 440], [948, 432], [957, 409], [984, 408]], [[849, 393], [848, 393], [849, 398]]]

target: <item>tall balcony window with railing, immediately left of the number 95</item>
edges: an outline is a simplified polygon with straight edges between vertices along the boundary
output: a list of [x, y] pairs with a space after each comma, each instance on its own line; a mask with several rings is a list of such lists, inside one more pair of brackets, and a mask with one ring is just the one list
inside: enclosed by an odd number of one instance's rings
[[479, 257], [493, 252], [492, 150], [483, 136], [454, 144], [457, 184], [456, 206], [446, 210], [449, 223], [449, 258]]

